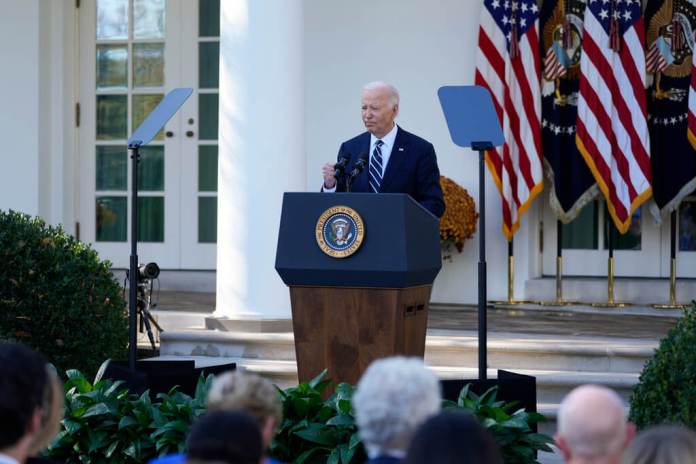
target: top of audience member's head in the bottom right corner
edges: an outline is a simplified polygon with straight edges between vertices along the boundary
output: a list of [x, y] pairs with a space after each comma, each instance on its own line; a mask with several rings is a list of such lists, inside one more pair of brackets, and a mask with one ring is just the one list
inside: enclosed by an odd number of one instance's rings
[[696, 432], [676, 425], [643, 430], [624, 453], [625, 464], [696, 464]]

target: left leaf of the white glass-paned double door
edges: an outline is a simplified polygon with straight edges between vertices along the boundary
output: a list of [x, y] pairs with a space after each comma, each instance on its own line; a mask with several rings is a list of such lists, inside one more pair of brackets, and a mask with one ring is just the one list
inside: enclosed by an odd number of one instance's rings
[[[127, 139], [180, 79], [179, 50], [168, 46], [180, 0], [93, 0], [80, 14], [81, 238], [127, 267], [132, 163]], [[195, 21], [189, 18], [188, 21]], [[176, 43], [176, 39], [174, 40]], [[178, 123], [172, 120], [168, 127]], [[176, 128], [171, 131], [178, 133]], [[160, 131], [140, 149], [138, 240], [141, 260], [179, 267], [178, 153]]]

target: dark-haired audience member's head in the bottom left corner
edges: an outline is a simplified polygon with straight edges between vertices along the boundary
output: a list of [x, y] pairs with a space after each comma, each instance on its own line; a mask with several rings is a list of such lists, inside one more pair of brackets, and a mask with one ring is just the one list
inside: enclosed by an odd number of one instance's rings
[[41, 429], [46, 361], [29, 348], [0, 342], [0, 453], [24, 462]]

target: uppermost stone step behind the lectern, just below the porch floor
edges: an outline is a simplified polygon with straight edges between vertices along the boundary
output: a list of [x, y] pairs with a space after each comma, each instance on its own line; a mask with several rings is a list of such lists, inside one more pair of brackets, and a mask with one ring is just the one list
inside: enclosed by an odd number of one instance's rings
[[[162, 355], [295, 360], [293, 335], [289, 332], [168, 331], [161, 334], [161, 339]], [[656, 342], [640, 339], [492, 333], [487, 353], [489, 366], [500, 369], [637, 373], [656, 347]], [[477, 336], [431, 329], [425, 360], [433, 366], [476, 366]]]

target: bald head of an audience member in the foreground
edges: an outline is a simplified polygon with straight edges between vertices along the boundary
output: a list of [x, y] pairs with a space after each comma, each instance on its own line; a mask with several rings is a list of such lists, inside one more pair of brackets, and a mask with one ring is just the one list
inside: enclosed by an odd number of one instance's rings
[[621, 398], [598, 385], [571, 391], [558, 410], [556, 445], [570, 463], [619, 463], [635, 435]]

